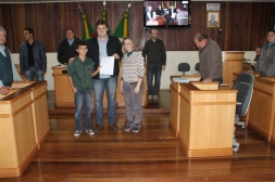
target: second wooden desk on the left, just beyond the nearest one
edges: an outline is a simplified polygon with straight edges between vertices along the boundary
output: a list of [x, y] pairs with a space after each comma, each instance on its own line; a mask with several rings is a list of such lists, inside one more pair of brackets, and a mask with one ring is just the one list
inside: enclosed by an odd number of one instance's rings
[[32, 90], [35, 138], [38, 148], [40, 148], [51, 132], [48, 114], [47, 81], [18, 81], [13, 82], [12, 88], [25, 88]]

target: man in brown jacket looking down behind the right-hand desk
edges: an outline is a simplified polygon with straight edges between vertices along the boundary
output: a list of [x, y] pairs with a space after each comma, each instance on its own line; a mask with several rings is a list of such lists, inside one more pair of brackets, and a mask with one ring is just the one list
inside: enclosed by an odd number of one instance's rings
[[223, 60], [222, 50], [218, 44], [205, 34], [198, 32], [193, 38], [195, 44], [199, 48], [200, 58], [200, 81], [223, 82]]

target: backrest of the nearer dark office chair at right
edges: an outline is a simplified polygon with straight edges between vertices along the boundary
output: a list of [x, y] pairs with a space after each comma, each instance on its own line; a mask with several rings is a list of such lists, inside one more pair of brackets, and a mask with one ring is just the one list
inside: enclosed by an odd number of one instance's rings
[[250, 105], [253, 88], [249, 83], [237, 82], [233, 86], [233, 89], [238, 90], [237, 103], [239, 104], [236, 105], [236, 115], [245, 116]]

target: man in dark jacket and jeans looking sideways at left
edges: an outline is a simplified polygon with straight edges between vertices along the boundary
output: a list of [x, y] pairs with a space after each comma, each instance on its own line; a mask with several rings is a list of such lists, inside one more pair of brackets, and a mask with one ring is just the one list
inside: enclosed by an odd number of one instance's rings
[[43, 80], [47, 69], [47, 58], [41, 42], [34, 39], [32, 28], [24, 29], [25, 42], [20, 47], [20, 66], [21, 73], [27, 80]]

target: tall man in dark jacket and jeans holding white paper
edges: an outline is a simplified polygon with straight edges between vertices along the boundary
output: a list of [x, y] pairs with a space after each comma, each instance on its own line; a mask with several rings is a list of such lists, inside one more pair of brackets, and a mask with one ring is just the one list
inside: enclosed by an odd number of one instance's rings
[[103, 93], [107, 90], [109, 127], [117, 130], [115, 125], [115, 93], [120, 73], [118, 60], [122, 58], [122, 44], [116, 37], [109, 36], [109, 26], [105, 21], [99, 20], [96, 24], [98, 36], [88, 40], [87, 56], [95, 61], [95, 67], [101, 66], [100, 73], [92, 77], [96, 108], [95, 131], [102, 129]]

